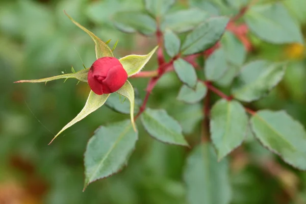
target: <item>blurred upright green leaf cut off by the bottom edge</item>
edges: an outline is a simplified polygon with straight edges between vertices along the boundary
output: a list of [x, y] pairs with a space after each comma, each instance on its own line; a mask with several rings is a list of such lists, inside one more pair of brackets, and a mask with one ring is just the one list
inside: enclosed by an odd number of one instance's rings
[[184, 169], [187, 200], [190, 204], [227, 204], [231, 201], [231, 185], [226, 160], [217, 162], [212, 145], [193, 148]]

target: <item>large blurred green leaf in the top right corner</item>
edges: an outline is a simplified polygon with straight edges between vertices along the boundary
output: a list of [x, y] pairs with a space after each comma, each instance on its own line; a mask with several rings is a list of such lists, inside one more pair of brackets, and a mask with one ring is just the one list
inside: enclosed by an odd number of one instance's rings
[[303, 43], [302, 33], [282, 3], [253, 6], [245, 15], [250, 30], [271, 43]]

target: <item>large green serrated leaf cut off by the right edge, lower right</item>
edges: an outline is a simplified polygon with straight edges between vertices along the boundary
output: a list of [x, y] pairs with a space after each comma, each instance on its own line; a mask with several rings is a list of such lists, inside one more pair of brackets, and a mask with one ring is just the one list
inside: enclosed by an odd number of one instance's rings
[[252, 130], [270, 151], [288, 164], [306, 170], [306, 133], [304, 127], [285, 111], [258, 111], [251, 118]]

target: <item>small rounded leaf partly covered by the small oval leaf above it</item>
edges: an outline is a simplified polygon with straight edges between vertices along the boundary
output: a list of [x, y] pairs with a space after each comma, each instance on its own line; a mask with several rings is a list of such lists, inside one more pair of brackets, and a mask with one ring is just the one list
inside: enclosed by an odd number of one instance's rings
[[188, 104], [198, 103], [202, 98], [206, 96], [207, 88], [202, 82], [198, 82], [195, 90], [183, 85], [179, 95], [177, 95], [177, 100], [184, 101]]

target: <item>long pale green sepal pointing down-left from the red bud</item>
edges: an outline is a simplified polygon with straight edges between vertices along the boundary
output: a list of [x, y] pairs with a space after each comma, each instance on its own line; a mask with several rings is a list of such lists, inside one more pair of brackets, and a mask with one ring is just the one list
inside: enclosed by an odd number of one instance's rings
[[73, 120], [71, 120], [68, 124], [66, 124], [63, 127], [63, 129], [52, 139], [52, 141], [49, 144], [51, 144], [53, 140], [55, 140], [55, 138], [57, 138], [68, 127], [79, 122], [80, 120], [88, 116], [90, 113], [94, 112], [95, 110], [103, 106], [103, 104], [105, 103], [109, 95], [110, 94], [97, 95], [93, 91], [90, 91], [86, 104], [84, 108], [82, 109], [82, 111], [75, 118], [73, 118]]

